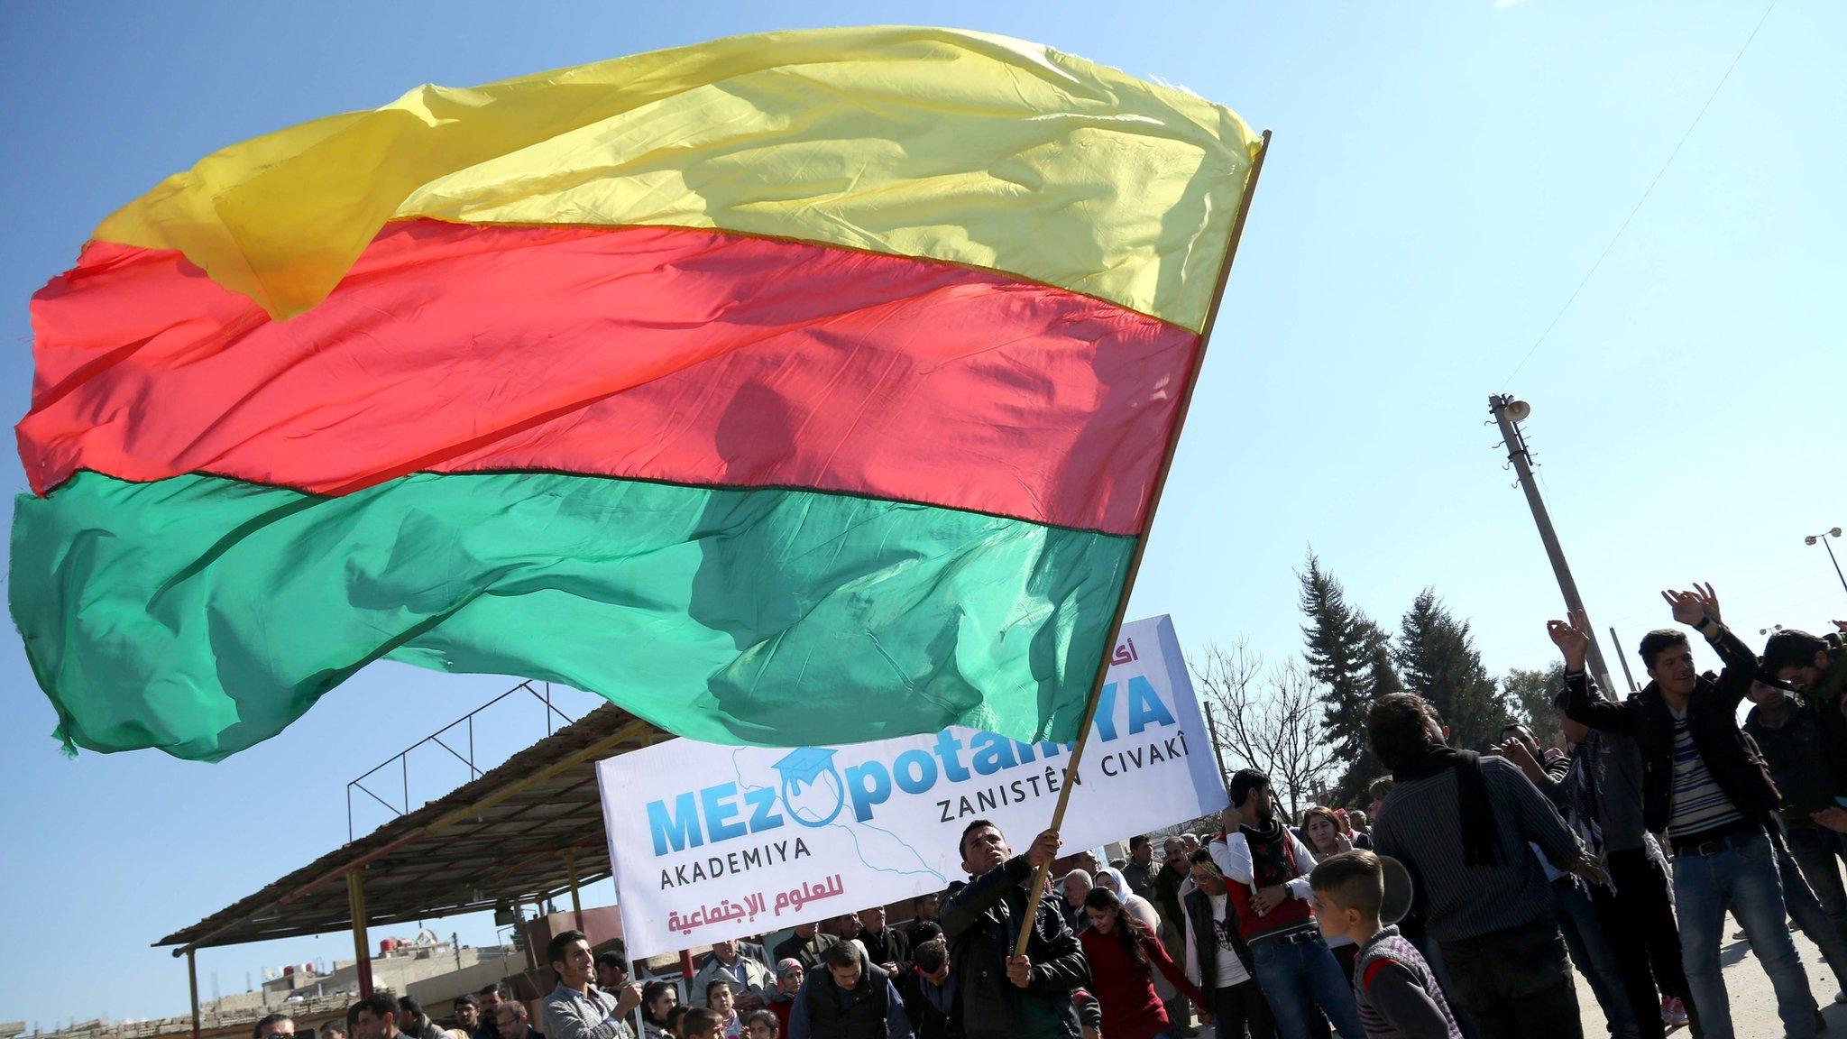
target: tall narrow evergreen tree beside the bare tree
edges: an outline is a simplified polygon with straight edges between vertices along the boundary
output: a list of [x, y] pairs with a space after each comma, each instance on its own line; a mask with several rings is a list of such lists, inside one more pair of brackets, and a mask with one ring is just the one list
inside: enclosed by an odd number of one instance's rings
[[1367, 784], [1385, 769], [1367, 751], [1367, 710], [1372, 701], [1402, 691], [1393, 669], [1391, 640], [1372, 619], [1346, 605], [1346, 592], [1315, 553], [1297, 571], [1302, 582], [1302, 625], [1308, 673], [1321, 688], [1321, 725], [1339, 760], [1346, 762], [1330, 791], [1334, 804], [1361, 804]]

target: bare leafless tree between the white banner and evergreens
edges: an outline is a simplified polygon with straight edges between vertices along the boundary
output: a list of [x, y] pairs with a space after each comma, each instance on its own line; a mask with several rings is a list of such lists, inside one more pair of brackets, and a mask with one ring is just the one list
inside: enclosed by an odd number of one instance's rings
[[1230, 649], [1206, 643], [1202, 660], [1188, 660], [1188, 667], [1215, 715], [1226, 765], [1269, 773], [1289, 817], [1300, 819], [1343, 764], [1322, 732], [1321, 695], [1308, 669], [1295, 658], [1265, 666], [1243, 638]]

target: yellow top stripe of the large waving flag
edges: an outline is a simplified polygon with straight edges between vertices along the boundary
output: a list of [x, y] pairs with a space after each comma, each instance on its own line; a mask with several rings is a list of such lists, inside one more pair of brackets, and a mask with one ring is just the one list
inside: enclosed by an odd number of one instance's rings
[[1230, 109], [1007, 37], [731, 37], [294, 126], [96, 237], [275, 316], [392, 218], [718, 227], [1001, 270], [1199, 331], [1258, 139]]

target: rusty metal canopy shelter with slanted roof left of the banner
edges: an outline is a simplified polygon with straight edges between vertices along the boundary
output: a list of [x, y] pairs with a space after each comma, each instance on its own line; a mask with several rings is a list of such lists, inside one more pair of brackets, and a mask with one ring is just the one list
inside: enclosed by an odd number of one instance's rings
[[153, 945], [177, 947], [174, 956], [187, 956], [190, 969], [198, 948], [351, 928], [360, 991], [369, 993], [369, 924], [565, 891], [573, 911], [582, 913], [578, 886], [610, 876], [595, 765], [665, 738], [665, 730], [624, 710], [597, 708], [480, 778]]

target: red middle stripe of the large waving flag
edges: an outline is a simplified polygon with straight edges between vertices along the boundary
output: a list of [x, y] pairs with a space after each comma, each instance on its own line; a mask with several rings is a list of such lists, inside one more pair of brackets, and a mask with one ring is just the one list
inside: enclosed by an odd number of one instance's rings
[[109, 242], [33, 299], [33, 490], [410, 471], [792, 486], [1138, 534], [1197, 336], [953, 264], [669, 227], [388, 226], [272, 322]]

